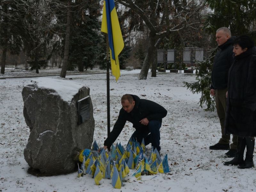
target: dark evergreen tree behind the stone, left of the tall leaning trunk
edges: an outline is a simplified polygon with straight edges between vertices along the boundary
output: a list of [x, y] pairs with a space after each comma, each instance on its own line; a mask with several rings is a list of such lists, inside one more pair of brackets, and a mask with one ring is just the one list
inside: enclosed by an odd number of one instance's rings
[[47, 0], [30, 0], [20, 10], [25, 32], [21, 34], [24, 51], [30, 58], [31, 70], [39, 73], [41, 67], [47, 67], [50, 59], [47, 45], [53, 37], [52, 14], [48, 11], [50, 2]]

